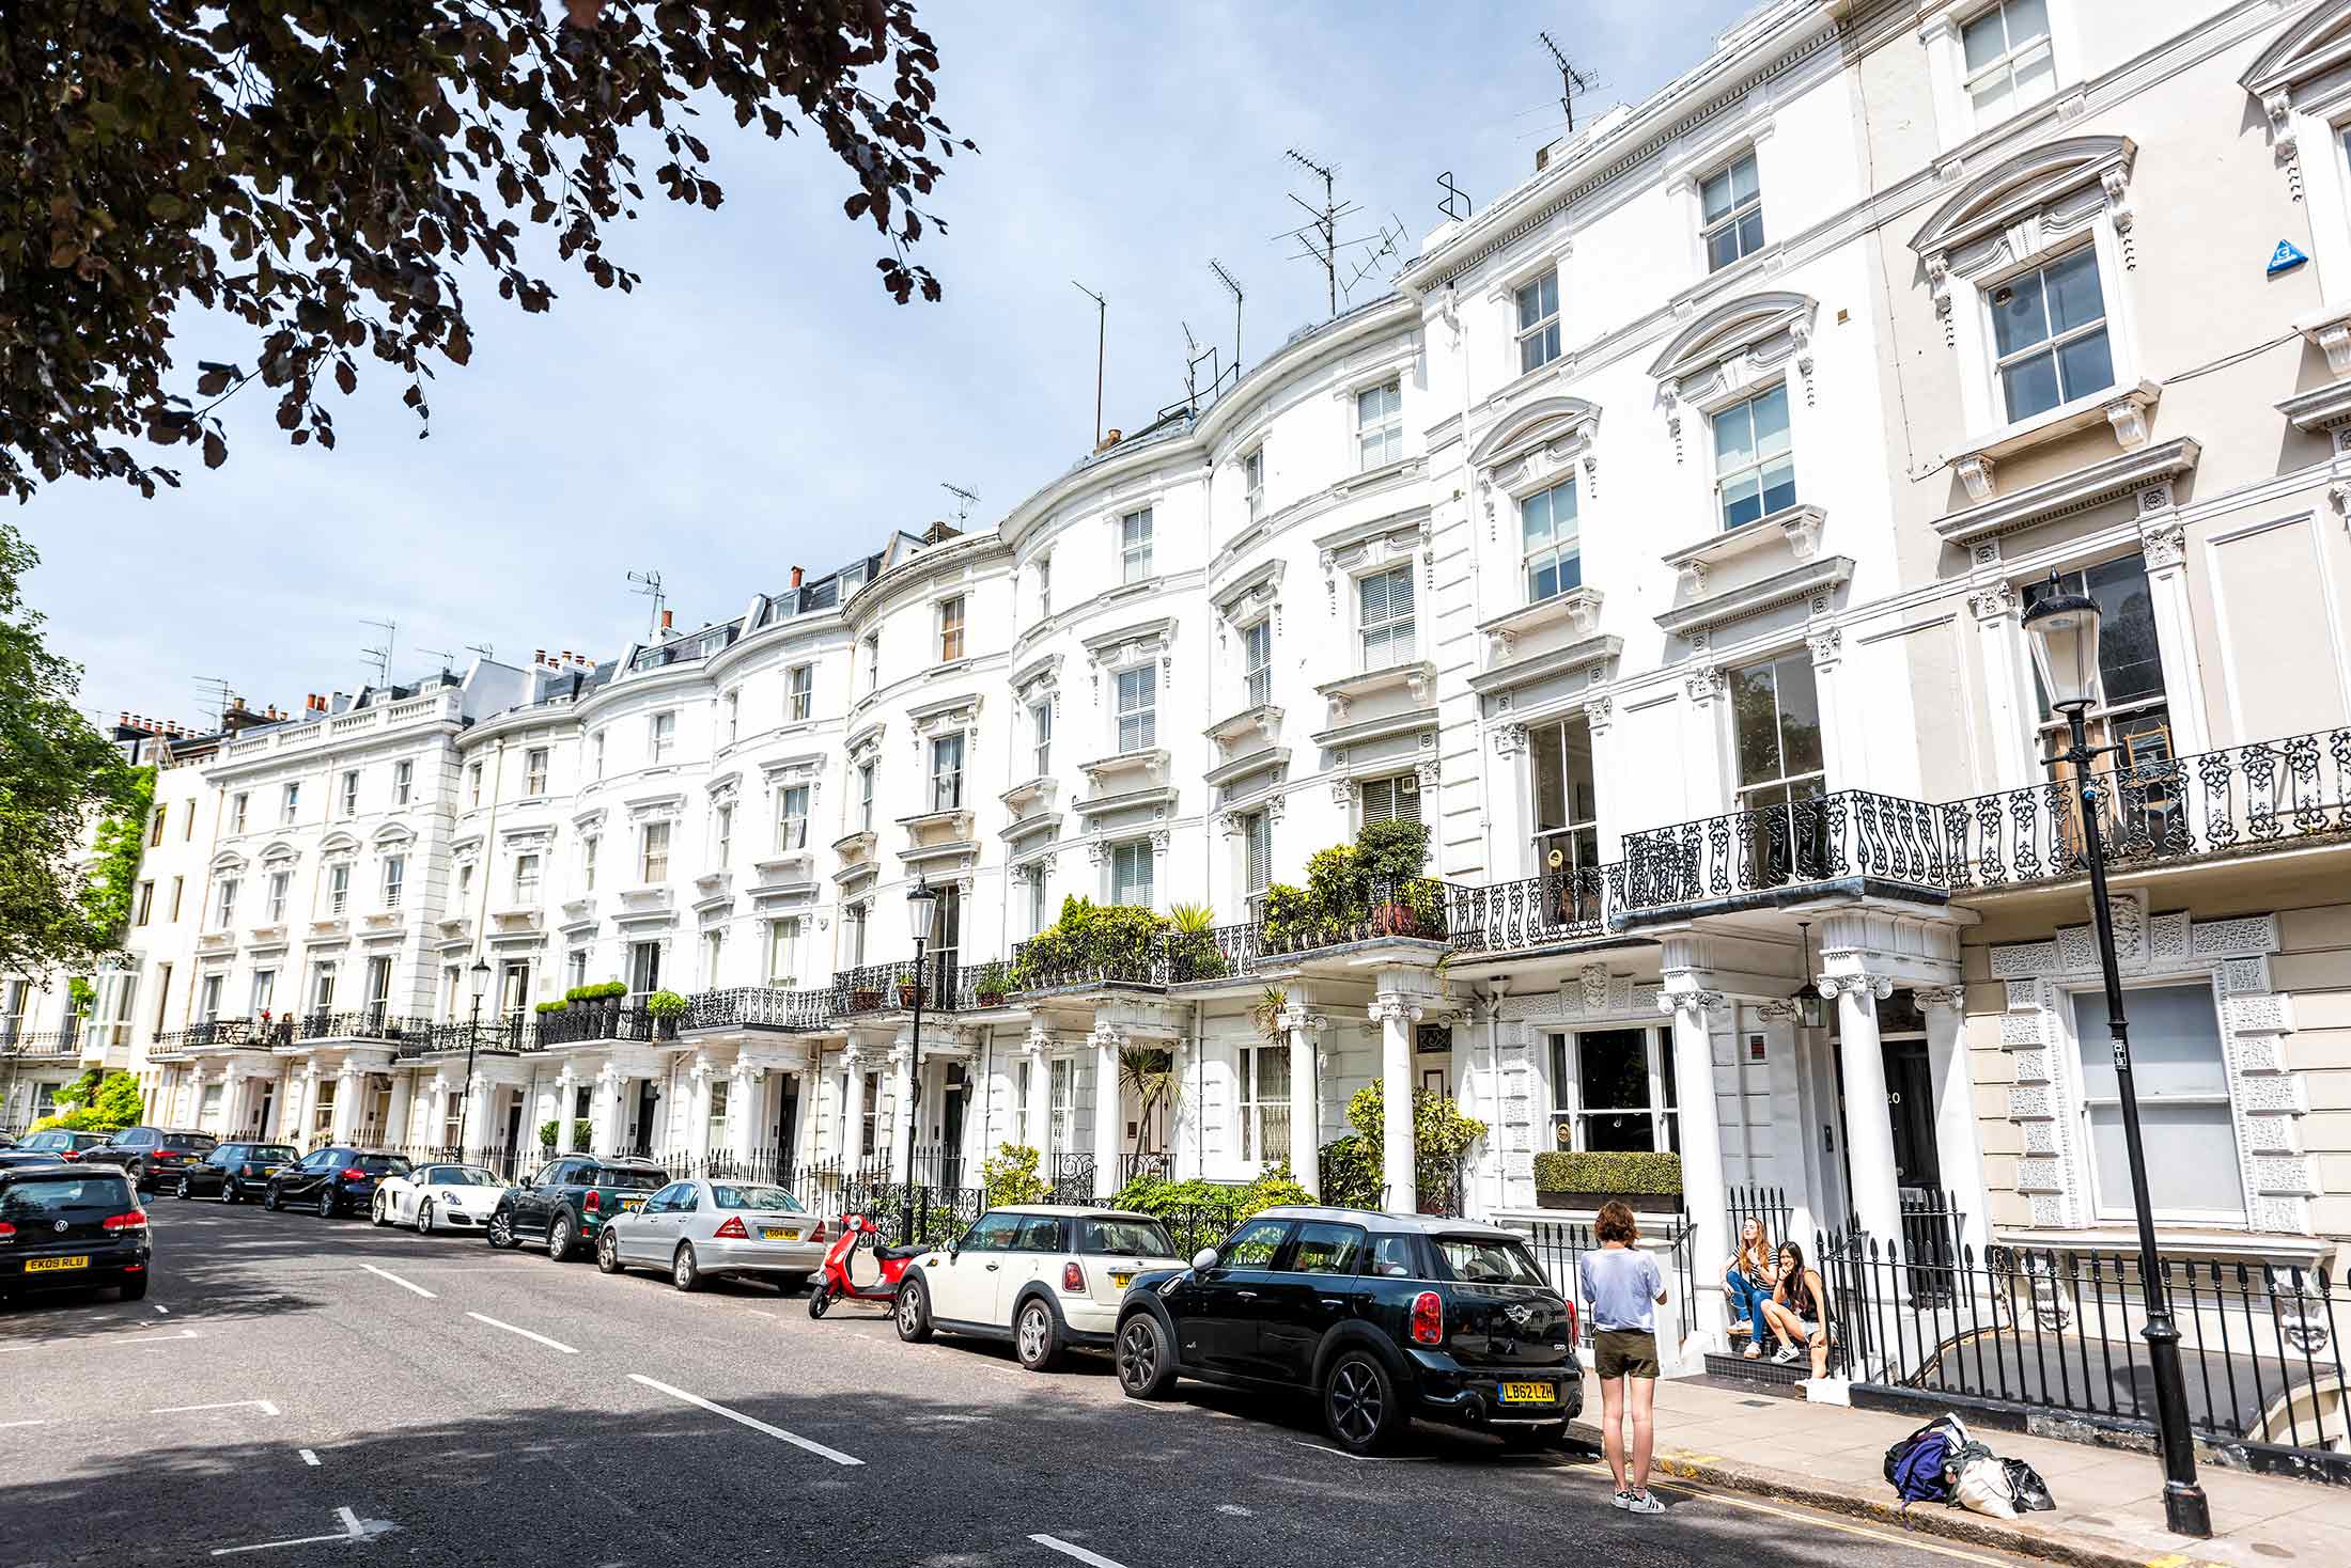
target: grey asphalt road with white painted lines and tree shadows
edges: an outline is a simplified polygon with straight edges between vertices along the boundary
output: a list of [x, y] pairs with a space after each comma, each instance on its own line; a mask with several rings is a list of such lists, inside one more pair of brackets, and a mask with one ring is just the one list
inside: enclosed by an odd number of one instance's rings
[[5, 1568], [2008, 1561], [1665, 1486], [1636, 1519], [1601, 1465], [1472, 1434], [1352, 1460], [1307, 1406], [1197, 1385], [1145, 1406], [1093, 1356], [1032, 1375], [762, 1286], [150, 1213], [148, 1300], [0, 1312]]

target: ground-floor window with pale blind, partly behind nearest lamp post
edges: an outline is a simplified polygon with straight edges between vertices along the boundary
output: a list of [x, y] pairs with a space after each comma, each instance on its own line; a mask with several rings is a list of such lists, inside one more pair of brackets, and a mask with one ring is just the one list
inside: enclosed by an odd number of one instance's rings
[[[2158, 1220], [2241, 1220], [2236, 1114], [2229, 1060], [2210, 983], [2144, 985], [2130, 1009], [2130, 1072], [2139, 1126], [2163, 1159], [2146, 1161], [2146, 1197]], [[2106, 992], [2074, 992], [2074, 1044], [2081, 1063], [2083, 1147], [2099, 1220], [2132, 1213], [2130, 1157], [2123, 1147], [2123, 1095], [2114, 1072]]]

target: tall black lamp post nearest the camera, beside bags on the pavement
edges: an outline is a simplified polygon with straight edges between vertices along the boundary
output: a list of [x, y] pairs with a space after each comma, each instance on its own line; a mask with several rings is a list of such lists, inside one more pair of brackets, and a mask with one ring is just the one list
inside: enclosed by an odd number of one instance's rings
[[2139, 1218], [2139, 1288], [2146, 1295], [2146, 1366], [2156, 1378], [2156, 1436], [2163, 1443], [2163, 1519], [2175, 1535], [2212, 1535], [2212, 1507], [2196, 1483], [2196, 1439], [2189, 1434], [2189, 1394], [2179, 1373], [2179, 1328], [2156, 1255], [2156, 1211], [2146, 1194], [2146, 1145], [2139, 1138], [2139, 1091], [2130, 1072], [2130, 1032], [2123, 1023], [2123, 978], [2114, 959], [2114, 910], [2106, 905], [2106, 844], [2099, 832], [2104, 788], [2090, 762], [2116, 748], [2090, 745], [2083, 715], [2097, 693], [2097, 602], [2069, 592], [2050, 574], [2048, 592], [2024, 611], [2034, 670], [2050, 708], [2067, 717], [2071, 745], [2050, 766], [2074, 771], [2081, 799], [2083, 853], [2090, 858], [2090, 914], [2097, 922], [2097, 964], [2106, 976], [2106, 1030], [2114, 1037], [2114, 1081], [2123, 1098], [2123, 1150], [2130, 1154], [2130, 1204]]

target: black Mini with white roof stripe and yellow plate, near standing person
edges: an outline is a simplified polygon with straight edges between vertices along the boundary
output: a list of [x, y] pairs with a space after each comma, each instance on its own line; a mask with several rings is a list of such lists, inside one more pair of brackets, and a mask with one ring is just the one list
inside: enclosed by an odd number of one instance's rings
[[1415, 1415], [1559, 1441], [1585, 1403], [1575, 1307], [1523, 1237], [1469, 1220], [1267, 1208], [1190, 1269], [1138, 1274], [1114, 1345], [1131, 1399], [1178, 1378], [1312, 1392], [1349, 1453]]

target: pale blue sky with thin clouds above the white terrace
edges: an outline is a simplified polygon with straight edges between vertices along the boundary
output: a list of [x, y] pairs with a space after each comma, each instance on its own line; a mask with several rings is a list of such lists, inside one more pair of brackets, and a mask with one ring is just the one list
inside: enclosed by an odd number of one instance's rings
[[[1246, 294], [1244, 364], [1321, 322], [1324, 275], [1286, 237], [1305, 216], [1288, 193], [1317, 181], [1286, 148], [1338, 165], [1361, 207], [1342, 237], [1401, 223], [1411, 256], [1441, 172], [1483, 212], [1561, 132], [1538, 31], [1599, 78], [1596, 115], [1756, 5], [924, 0], [938, 113], [980, 146], [947, 165], [947, 233], [915, 252], [940, 303], [882, 292], [886, 247], [842, 219], [851, 181], [818, 141], [705, 118], [726, 202], [649, 186], [639, 221], [607, 230], [635, 294], [543, 273], [555, 308], [524, 315], [468, 289], [475, 353], [440, 369], [430, 440], [374, 360], [355, 397], [329, 395], [334, 451], [289, 447], [268, 390], [233, 397], [223, 468], [167, 458], [183, 489], [63, 480], [14, 508], [42, 555], [28, 597], [103, 722], [205, 724], [207, 679], [282, 710], [355, 691], [383, 644], [369, 621], [397, 623], [397, 682], [440, 668], [428, 649], [458, 670], [468, 646], [614, 658], [649, 623], [630, 571], [661, 574], [679, 628], [726, 621], [795, 564], [952, 520], [943, 484], [978, 491], [969, 527], [992, 527], [1084, 456], [1096, 310], [1072, 280], [1110, 301], [1103, 421], [1128, 430], [1183, 397], [1185, 324], [1230, 355], [1211, 256]], [[176, 350], [190, 378], [200, 357], [254, 360], [197, 315]]]

